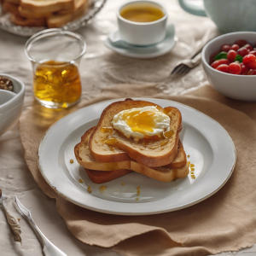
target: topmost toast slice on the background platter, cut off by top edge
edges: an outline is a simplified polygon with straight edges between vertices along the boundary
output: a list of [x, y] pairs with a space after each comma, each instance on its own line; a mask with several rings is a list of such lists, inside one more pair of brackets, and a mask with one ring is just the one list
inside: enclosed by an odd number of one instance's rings
[[20, 0], [20, 6], [36, 13], [53, 13], [61, 9], [75, 9], [79, 0]]

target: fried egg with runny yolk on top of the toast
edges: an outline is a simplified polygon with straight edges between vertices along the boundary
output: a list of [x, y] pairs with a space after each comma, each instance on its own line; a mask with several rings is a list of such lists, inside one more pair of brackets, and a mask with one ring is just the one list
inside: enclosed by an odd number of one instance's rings
[[154, 106], [131, 108], [113, 117], [113, 128], [135, 141], [143, 138], [160, 137], [170, 127], [170, 118]]

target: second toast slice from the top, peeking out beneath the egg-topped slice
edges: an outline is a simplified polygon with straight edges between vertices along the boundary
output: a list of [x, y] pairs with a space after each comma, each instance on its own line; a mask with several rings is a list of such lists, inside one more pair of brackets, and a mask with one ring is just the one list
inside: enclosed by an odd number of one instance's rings
[[[100, 163], [94, 160], [90, 152], [89, 140], [90, 140], [90, 135], [92, 131], [95, 130], [95, 128], [96, 127], [94, 126], [94, 127], [91, 127], [88, 131], [85, 131], [84, 135], [81, 137], [81, 142], [78, 143], [74, 148], [74, 154], [76, 156], [76, 159], [79, 162], [79, 165], [89, 170], [104, 171], [104, 172], [114, 171], [119, 169], [131, 169], [131, 161], [135, 162], [132, 159], [126, 160], [126, 161], [120, 161], [120, 162], [109, 162], [109, 163]], [[183, 149], [183, 144], [179, 141], [176, 158], [172, 161], [171, 164], [165, 167], [166, 168], [182, 168], [183, 166], [185, 166], [186, 162], [187, 162], [187, 158]], [[137, 166], [142, 166], [143, 168], [143, 165], [139, 163], [137, 163]]]

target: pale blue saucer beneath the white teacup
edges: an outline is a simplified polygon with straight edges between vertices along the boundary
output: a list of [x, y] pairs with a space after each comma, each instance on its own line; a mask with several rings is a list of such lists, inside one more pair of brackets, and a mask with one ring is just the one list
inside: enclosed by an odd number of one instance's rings
[[[119, 38], [119, 31], [113, 32], [109, 37]], [[154, 58], [168, 53], [176, 44], [177, 37], [175, 37], [175, 28], [173, 24], [167, 26], [166, 38], [159, 44], [149, 45], [149, 46], [135, 46], [129, 45], [124, 42], [124, 45], [117, 47], [112, 44], [111, 40], [107, 38], [105, 45], [109, 49], [119, 53], [120, 55], [125, 55], [131, 58], [148, 59]]]

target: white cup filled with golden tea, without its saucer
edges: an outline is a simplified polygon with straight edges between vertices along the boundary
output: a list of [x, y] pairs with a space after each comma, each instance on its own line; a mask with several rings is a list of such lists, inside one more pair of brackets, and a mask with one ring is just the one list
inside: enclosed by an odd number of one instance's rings
[[146, 46], [166, 38], [167, 11], [151, 1], [133, 1], [117, 12], [120, 38], [128, 44]]

